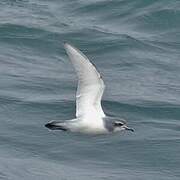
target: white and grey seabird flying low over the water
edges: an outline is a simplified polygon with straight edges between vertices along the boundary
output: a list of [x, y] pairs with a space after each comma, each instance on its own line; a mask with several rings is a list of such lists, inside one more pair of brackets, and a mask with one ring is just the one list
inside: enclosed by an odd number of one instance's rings
[[84, 134], [108, 134], [122, 130], [134, 131], [126, 121], [107, 116], [101, 106], [104, 81], [95, 65], [76, 47], [64, 43], [66, 53], [77, 73], [76, 118], [50, 121], [45, 127], [51, 130]]

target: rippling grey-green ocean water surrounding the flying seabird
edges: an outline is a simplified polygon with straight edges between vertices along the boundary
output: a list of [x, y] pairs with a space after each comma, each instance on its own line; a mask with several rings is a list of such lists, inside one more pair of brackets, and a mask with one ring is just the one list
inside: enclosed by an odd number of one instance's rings
[[[0, 179], [179, 180], [180, 1], [1, 0]], [[48, 131], [75, 114], [81, 49], [134, 133]]]

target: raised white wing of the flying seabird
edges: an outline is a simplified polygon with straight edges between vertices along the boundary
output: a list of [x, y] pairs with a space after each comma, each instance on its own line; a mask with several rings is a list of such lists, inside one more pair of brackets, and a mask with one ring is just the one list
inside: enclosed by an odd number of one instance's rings
[[72, 45], [64, 44], [66, 52], [77, 72], [76, 117], [95, 115], [105, 117], [101, 107], [104, 82], [95, 66]]

